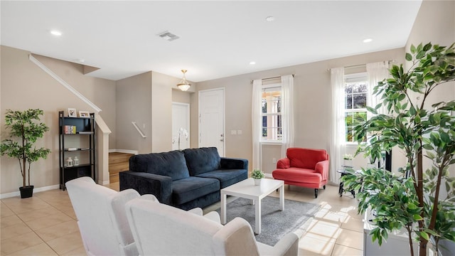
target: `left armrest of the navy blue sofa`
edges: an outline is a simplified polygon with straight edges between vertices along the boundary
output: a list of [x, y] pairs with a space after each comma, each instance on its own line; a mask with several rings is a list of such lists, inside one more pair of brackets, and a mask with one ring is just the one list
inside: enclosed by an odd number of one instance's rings
[[171, 204], [172, 178], [138, 171], [119, 172], [120, 191], [133, 188], [140, 195], [152, 194], [160, 203]]

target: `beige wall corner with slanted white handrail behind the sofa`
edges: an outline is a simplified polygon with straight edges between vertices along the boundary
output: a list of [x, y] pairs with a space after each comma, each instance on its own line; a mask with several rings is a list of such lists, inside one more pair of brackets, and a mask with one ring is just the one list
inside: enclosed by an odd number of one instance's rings
[[[178, 90], [179, 81], [152, 71], [117, 81], [118, 150], [146, 154], [172, 149], [172, 102], [190, 102], [191, 93]], [[137, 122], [146, 138], [132, 122]]]

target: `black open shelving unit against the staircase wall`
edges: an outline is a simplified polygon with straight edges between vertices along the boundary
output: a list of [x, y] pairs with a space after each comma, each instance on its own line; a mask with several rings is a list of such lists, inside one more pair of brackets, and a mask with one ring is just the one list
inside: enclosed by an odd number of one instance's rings
[[[95, 179], [95, 113], [89, 117], [65, 117], [58, 112], [60, 149], [60, 189], [65, 190], [65, 183], [74, 178], [90, 176]], [[72, 130], [65, 129], [74, 127]], [[67, 159], [77, 156], [78, 165], [68, 166]]]

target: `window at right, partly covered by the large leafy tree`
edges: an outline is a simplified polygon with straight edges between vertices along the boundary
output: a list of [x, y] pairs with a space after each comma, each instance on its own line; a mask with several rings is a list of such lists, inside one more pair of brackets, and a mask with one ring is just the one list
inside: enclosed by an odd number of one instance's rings
[[346, 142], [354, 142], [357, 119], [367, 118], [368, 82], [366, 73], [345, 75], [345, 134]]

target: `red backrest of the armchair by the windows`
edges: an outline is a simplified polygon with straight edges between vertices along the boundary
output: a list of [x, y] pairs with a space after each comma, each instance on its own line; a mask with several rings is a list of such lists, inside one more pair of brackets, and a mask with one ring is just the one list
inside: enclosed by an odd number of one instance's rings
[[287, 158], [291, 160], [291, 167], [314, 169], [316, 163], [328, 159], [325, 149], [287, 149]]

